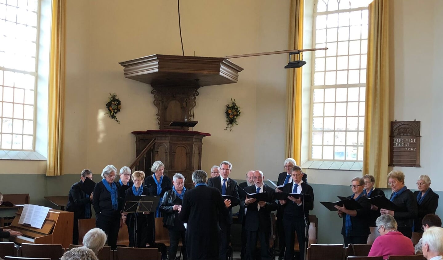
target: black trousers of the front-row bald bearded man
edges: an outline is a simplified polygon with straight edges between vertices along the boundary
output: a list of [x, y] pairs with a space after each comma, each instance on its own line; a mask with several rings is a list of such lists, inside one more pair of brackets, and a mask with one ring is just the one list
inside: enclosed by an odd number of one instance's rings
[[269, 236], [271, 232], [246, 230], [246, 260], [260, 259], [256, 256], [257, 240], [260, 241], [261, 259], [270, 260]]

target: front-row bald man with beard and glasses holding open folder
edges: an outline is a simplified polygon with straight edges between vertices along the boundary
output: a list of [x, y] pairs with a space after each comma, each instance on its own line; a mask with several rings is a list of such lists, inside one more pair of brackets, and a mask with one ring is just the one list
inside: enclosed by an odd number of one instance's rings
[[269, 237], [271, 236], [271, 211], [277, 209], [277, 203], [272, 200], [274, 189], [264, 184], [263, 172], [255, 171], [253, 180], [255, 185], [245, 188], [245, 192], [267, 193], [266, 200], [257, 201], [254, 198], [245, 198], [240, 202], [241, 211], [245, 211], [245, 230], [246, 230], [246, 259], [255, 260], [257, 240], [260, 240], [261, 259], [270, 260]]

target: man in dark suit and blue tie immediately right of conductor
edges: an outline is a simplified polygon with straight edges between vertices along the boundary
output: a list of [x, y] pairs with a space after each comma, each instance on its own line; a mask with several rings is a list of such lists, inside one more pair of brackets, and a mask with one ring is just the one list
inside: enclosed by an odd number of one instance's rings
[[225, 218], [220, 218], [220, 260], [227, 259], [227, 250], [229, 241], [231, 238], [231, 225], [232, 225], [232, 207], [235, 207], [240, 203], [238, 196], [237, 181], [229, 178], [231, 173], [232, 164], [228, 161], [220, 163], [220, 176], [210, 178], [208, 180], [208, 186], [217, 188], [221, 195], [231, 196], [229, 199], [225, 199], [225, 203], [229, 205], [229, 215]]

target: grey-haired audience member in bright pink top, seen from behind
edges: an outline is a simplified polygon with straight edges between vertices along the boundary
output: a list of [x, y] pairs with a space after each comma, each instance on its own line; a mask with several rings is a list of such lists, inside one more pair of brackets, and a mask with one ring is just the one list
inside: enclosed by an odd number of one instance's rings
[[386, 260], [389, 256], [412, 256], [414, 245], [411, 239], [397, 231], [397, 222], [389, 214], [381, 215], [375, 224], [380, 236], [372, 244], [368, 256], [383, 256]]

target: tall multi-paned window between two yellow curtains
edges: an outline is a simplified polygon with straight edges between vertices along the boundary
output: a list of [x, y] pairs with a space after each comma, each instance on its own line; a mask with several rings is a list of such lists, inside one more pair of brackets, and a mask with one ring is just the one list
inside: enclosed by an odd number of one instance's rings
[[318, 0], [313, 45], [311, 160], [362, 161], [368, 6]]

